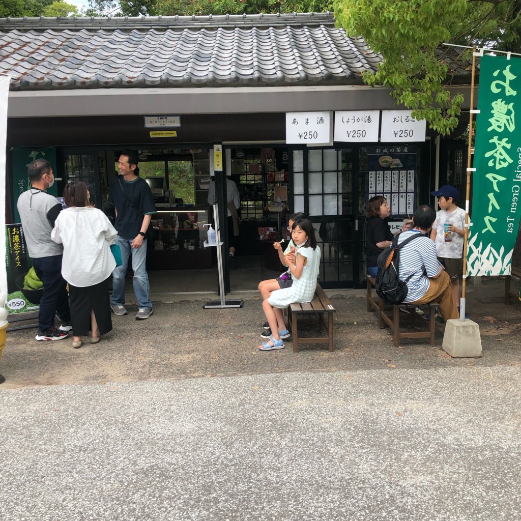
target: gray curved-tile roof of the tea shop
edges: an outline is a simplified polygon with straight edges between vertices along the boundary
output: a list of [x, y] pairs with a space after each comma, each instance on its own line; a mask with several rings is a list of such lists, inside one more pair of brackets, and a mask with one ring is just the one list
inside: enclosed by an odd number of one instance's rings
[[362, 84], [380, 60], [331, 14], [0, 19], [11, 90]]

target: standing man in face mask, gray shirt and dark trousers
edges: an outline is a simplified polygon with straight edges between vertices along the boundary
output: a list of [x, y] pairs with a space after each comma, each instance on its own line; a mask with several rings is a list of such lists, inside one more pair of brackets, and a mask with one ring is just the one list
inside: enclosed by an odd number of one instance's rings
[[[63, 246], [51, 239], [61, 204], [56, 197], [46, 193], [54, 184], [51, 163], [46, 159], [36, 159], [29, 165], [27, 175], [31, 188], [20, 194], [17, 208], [34, 271], [43, 282], [35, 338], [39, 341], [63, 340], [69, 336], [67, 331], [72, 329], [67, 282], [61, 276]], [[61, 319], [59, 327], [54, 324], [56, 314]]]

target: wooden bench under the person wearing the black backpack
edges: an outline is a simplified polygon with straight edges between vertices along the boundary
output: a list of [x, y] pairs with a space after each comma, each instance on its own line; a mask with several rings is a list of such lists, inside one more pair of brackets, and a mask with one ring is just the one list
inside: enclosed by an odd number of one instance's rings
[[[436, 306], [437, 302], [429, 302], [428, 304], [387, 304], [378, 295], [373, 296], [375, 289], [375, 278], [365, 276], [367, 279], [367, 311], [375, 311], [378, 313], [378, 326], [384, 328], [389, 326], [393, 336], [394, 347], [400, 345], [402, 338], [428, 338], [430, 345], [435, 345], [436, 335]], [[376, 290], [375, 290], [376, 291]], [[429, 320], [416, 313], [416, 308], [424, 310], [429, 315]], [[401, 331], [400, 330], [400, 309], [405, 309], [413, 317], [415, 322], [425, 331]]]

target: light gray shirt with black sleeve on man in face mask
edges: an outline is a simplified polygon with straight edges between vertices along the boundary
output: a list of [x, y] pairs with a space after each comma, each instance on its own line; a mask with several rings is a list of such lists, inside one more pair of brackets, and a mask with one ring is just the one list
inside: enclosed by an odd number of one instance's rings
[[63, 246], [51, 239], [54, 221], [61, 211], [61, 204], [56, 197], [42, 190], [30, 188], [20, 194], [16, 206], [29, 255], [32, 258], [62, 255]]

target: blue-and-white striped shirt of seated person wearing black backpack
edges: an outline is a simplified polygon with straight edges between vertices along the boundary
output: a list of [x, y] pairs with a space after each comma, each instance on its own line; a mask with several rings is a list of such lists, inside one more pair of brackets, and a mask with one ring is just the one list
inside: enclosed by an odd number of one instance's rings
[[[411, 237], [417, 230], [407, 230], [398, 235], [398, 244]], [[403, 301], [414, 302], [427, 293], [430, 281], [427, 277], [436, 277], [440, 272], [440, 263], [436, 256], [436, 245], [426, 235], [405, 244], [400, 250], [398, 270], [400, 279], [405, 280], [413, 274], [407, 282], [407, 297]]]

